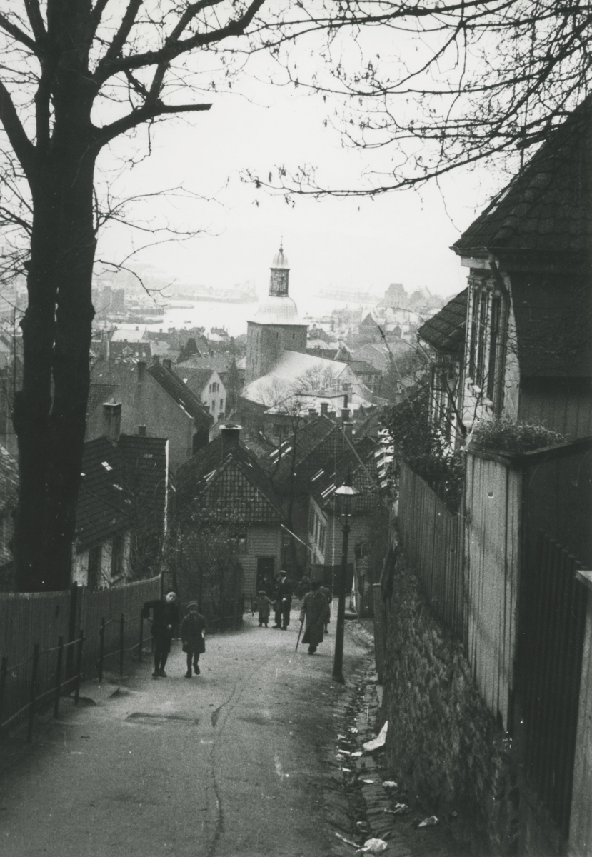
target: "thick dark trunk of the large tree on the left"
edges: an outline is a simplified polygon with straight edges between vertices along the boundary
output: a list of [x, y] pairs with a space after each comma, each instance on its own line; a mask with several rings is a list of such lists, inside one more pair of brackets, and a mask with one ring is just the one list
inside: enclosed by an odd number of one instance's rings
[[15, 582], [21, 592], [69, 586], [90, 385], [95, 155], [80, 134], [63, 139], [68, 144], [52, 144], [31, 182], [23, 386], [13, 417], [21, 477]]

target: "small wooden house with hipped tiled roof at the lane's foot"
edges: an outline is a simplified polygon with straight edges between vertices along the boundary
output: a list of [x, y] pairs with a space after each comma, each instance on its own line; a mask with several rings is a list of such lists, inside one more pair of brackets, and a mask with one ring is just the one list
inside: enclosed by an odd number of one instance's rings
[[240, 426], [222, 426], [218, 438], [182, 465], [176, 474], [176, 512], [180, 525], [188, 512], [204, 510], [228, 526], [238, 546], [243, 594], [253, 597], [261, 587], [271, 591], [279, 571], [284, 515], [269, 477], [240, 433]]

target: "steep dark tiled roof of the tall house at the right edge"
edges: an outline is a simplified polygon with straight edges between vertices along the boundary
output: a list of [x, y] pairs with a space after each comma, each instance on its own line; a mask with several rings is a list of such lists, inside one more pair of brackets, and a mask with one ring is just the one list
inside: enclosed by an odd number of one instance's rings
[[592, 95], [579, 105], [507, 188], [453, 244], [487, 250], [589, 253], [592, 248]]

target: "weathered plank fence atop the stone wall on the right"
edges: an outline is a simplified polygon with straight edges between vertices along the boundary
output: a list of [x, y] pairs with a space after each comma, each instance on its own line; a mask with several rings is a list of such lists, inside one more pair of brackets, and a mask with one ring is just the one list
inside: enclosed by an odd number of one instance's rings
[[464, 640], [464, 521], [402, 463], [398, 501], [402, 548], [434, 613]]

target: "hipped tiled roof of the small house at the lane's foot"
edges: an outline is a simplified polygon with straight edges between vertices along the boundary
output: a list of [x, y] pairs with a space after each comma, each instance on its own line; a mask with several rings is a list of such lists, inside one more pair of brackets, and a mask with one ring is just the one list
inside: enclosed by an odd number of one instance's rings
[[222, 441], [212, 440], [177, 470], [177, 507], [196, 502], [222, 521], [280, 523], [272, 483], [254, 454], [239, 442], [223, 458]]

